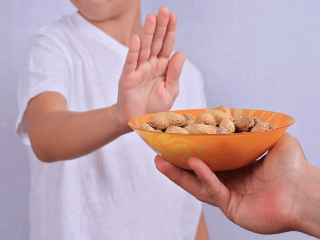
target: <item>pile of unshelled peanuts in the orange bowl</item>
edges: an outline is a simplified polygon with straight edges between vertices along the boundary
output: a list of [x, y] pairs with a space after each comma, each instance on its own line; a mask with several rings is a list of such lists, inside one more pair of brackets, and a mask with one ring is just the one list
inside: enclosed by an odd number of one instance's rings
[[244, 116], [234, 119], [227, 106], [218, 106], [197, 118], [190, 113], [181, 115], [159, 112], [151, 116], [150, 122], [140, 126], [142, 130], [173, 134], [232, 134], [275, 128], [267, 122], [262, 122], [259, 117]]

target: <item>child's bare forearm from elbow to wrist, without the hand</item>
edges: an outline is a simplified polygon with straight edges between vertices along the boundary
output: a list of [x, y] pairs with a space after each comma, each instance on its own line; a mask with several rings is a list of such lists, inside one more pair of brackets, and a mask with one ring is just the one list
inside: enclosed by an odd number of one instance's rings
[[114, 116], [114, 106], [87, 112], [67, 110], [42, 114], [29, 129], [32, 149], [43, 162], [89, 154], [131, 131]]

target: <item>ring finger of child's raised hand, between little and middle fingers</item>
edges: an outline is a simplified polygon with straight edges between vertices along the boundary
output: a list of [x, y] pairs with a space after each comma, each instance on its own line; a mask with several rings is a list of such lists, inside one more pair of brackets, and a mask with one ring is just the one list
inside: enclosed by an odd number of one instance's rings
[[138, 63], [143, 63], [149, 59], [151, 43], [157, 26], [157, 17], [155, 14], [149, 14], [143, 27], [141, 36], [141, 48], [139, 52]]

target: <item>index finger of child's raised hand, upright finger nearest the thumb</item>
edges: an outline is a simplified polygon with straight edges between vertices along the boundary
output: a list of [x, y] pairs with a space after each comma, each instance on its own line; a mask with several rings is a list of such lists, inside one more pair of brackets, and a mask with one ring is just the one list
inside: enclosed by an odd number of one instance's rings
[[177, 15], [174, 13], [170, 14], [168, 27], [163, 39], [162, 48], [158, 57], [170, 58], [173, 51], [174, 39], [176, 36], [176, 27], [177, 27]]

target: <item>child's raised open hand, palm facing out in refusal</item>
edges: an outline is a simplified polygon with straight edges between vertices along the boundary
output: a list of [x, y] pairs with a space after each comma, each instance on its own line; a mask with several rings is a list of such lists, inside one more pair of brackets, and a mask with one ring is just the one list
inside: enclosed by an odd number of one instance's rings
[[183, 52], [170, 58], [177, 16], [161, 7], [149, 14], [141, 37], [133, 35], [119, 81], [117, 120], [127, 125], [131, 118], [168, 111], [179, 93], [179, 77], [186, 59]]

